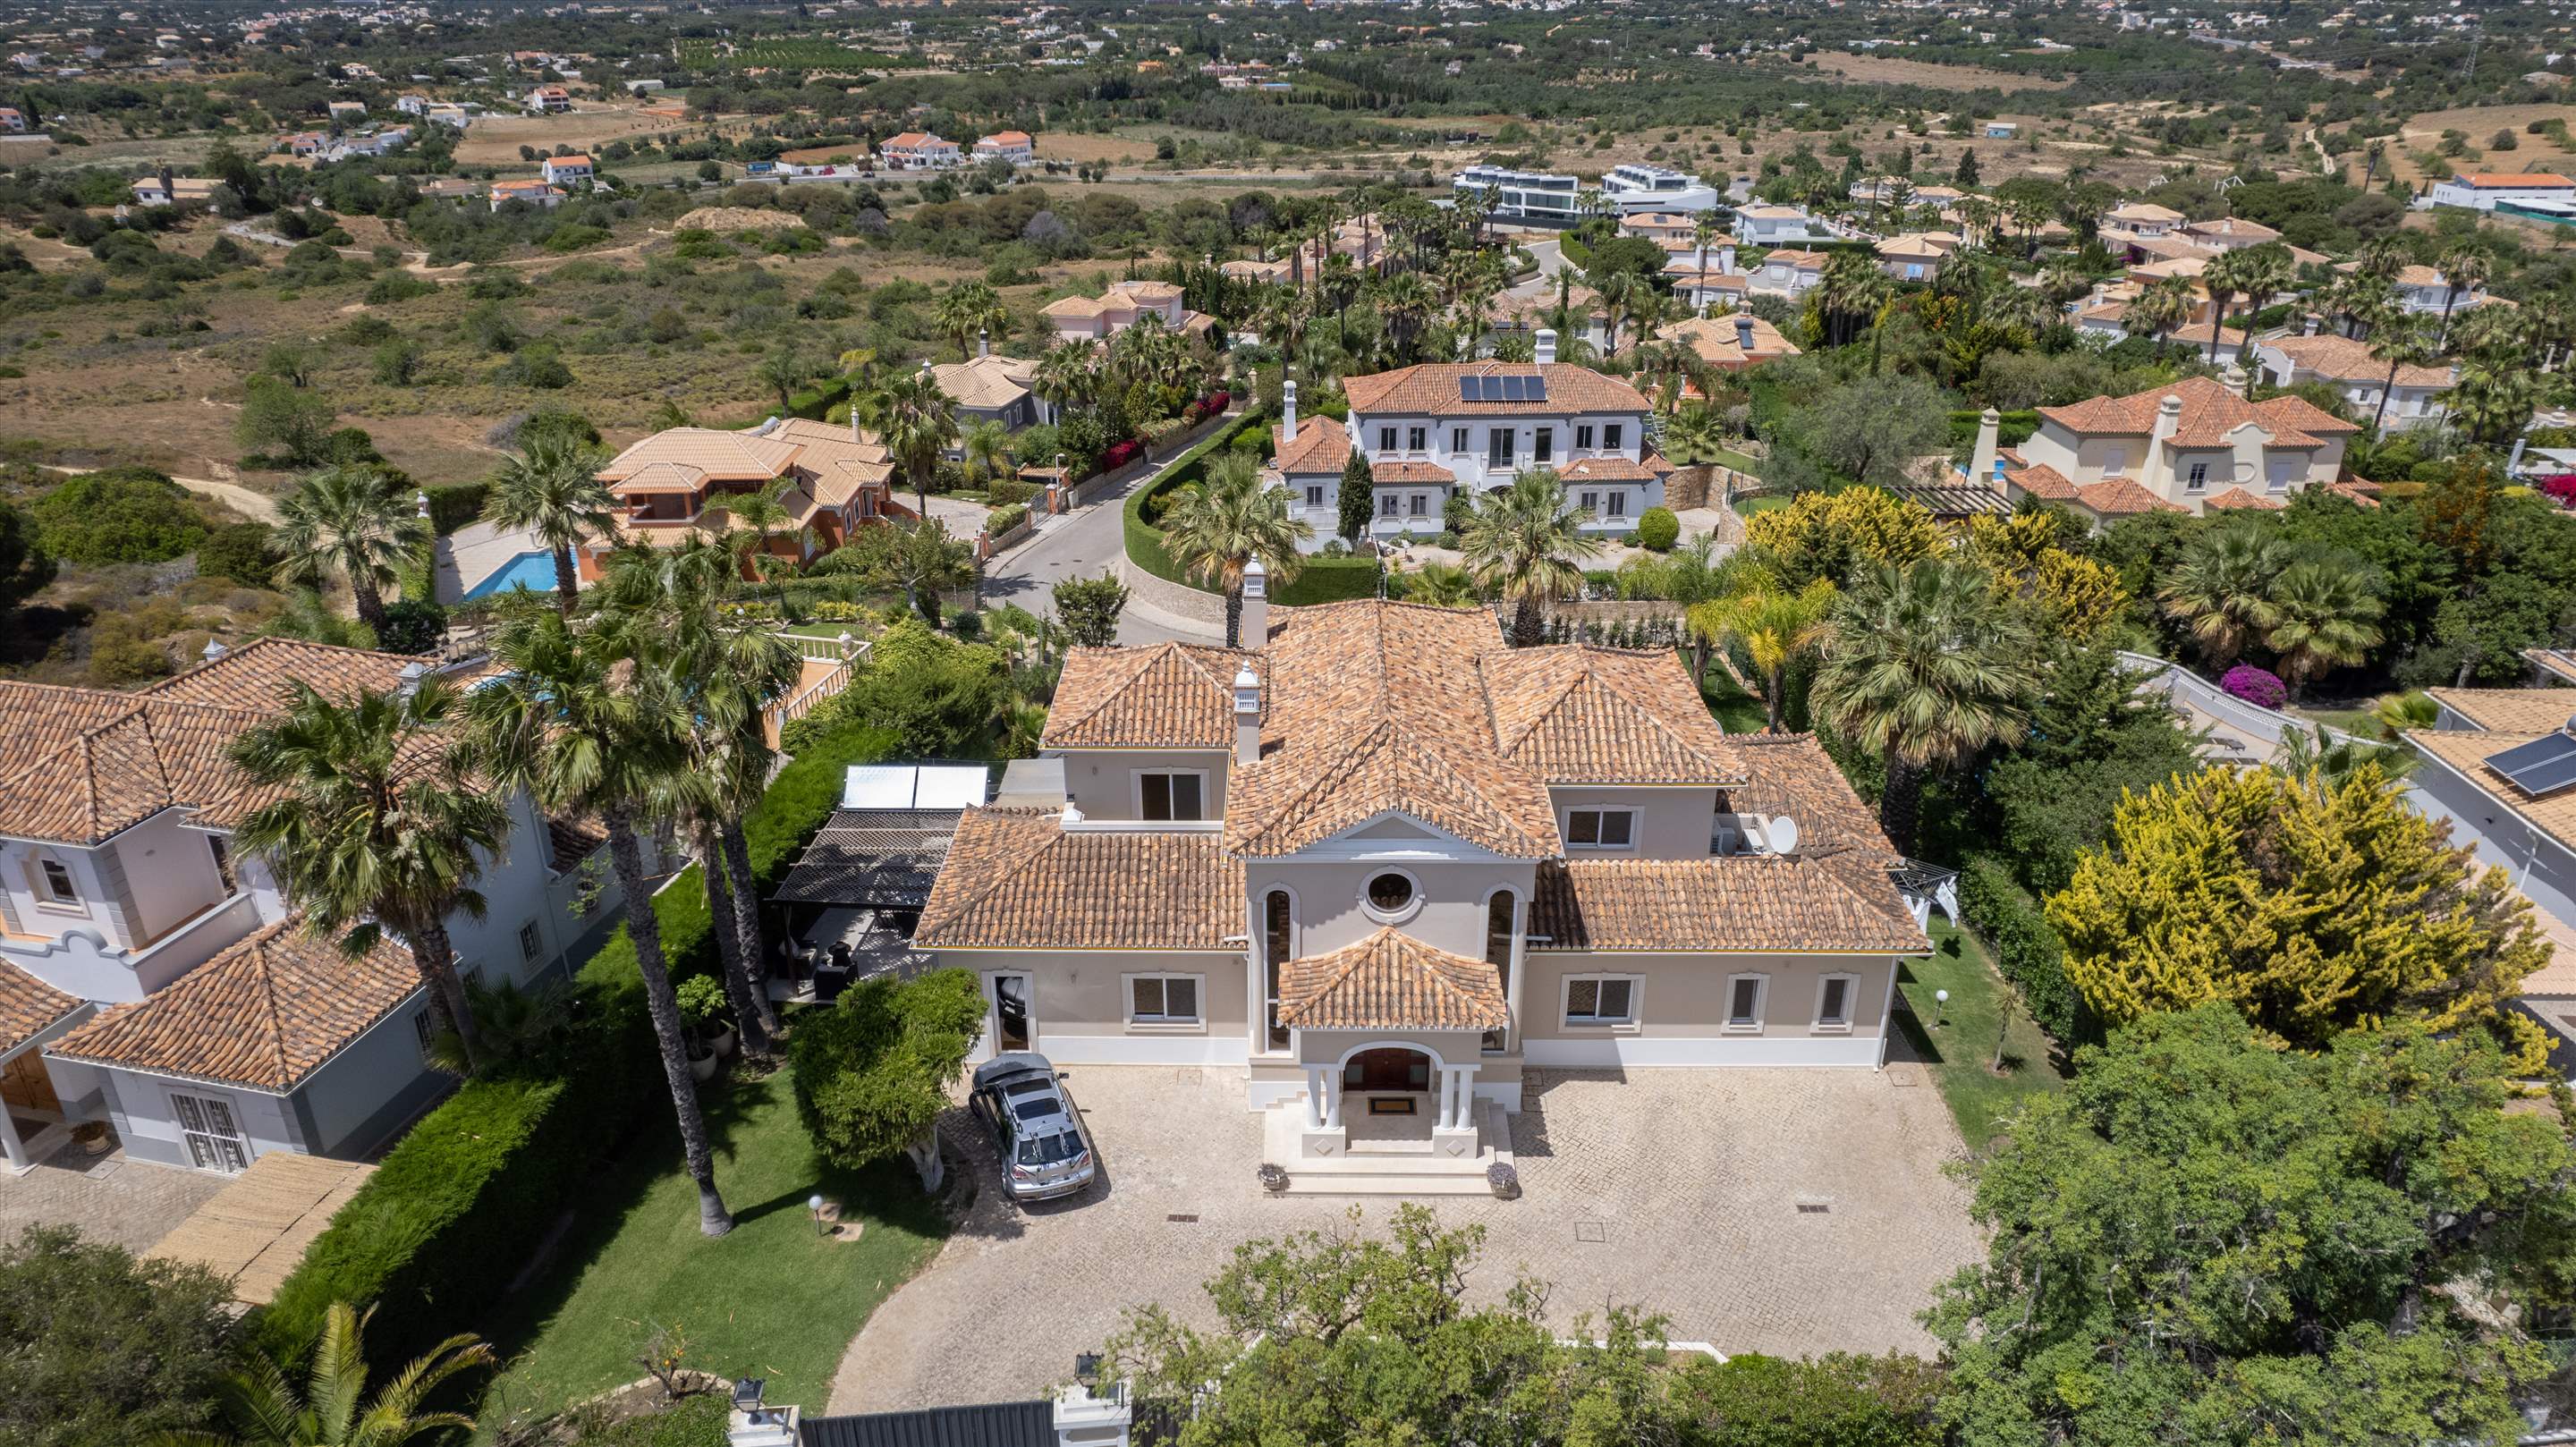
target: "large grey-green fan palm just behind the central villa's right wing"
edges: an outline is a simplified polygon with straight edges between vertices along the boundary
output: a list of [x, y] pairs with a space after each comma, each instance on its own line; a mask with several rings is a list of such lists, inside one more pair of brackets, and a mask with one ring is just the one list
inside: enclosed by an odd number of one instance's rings
[[1865, 572], [1832, 628], [1816, 708], [1837, 734], [1886, 757], [1878, 819], [1911, 850], [1924, 772], [2022, 739], [2040, 685], [2032, 639], [1996, 602], [1994, 574], [1953, 556]]

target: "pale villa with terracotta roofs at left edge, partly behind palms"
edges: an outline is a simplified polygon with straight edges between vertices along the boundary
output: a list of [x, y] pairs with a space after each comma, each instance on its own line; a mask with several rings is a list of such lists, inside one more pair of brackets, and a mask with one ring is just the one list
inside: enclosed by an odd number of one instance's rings
[[[28, 1169], [108, 1123], [131, 1169], [240, 1172], [268, 1151], [363, 1159], [451, 1084], [428, 1066], [412, 955], [314, 937], [232, 842], [268, 798], [232, 742], [286, 685], [417, 687], [422, 659], [258, 639], [142, 693], [0, 682], [0, 1156]], [[613, 919], [587, 824], [510, 801], [502, 863], [456, 911], [459, 968], [559, 973]]]

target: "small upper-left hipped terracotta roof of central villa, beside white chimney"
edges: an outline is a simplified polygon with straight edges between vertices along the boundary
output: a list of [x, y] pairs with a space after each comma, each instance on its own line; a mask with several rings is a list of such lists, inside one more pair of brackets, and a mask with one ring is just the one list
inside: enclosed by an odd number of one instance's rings
[[1041, 749], [1231, 749], [1239, 649], [1069, 649]]

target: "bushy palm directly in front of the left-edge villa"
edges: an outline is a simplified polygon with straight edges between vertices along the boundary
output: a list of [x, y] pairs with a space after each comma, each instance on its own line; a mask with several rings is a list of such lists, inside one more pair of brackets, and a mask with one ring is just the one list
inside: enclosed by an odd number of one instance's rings
[[232, 765], [273, 798], [242, 819], [245, 850], [268, 860], [286, 899], [350, 958], [392, 929], [412, 950], [440, 1027], [474, 1063], [474, 1012], [456, 976], [448, 917], [482, 919], [474, 888], [510, 845], [510, 811], [477, 788], [443, 734], [456, 693], [435, 675], [404, 693], [348, 700], [286, 685], [286, 713], [232, 742]]

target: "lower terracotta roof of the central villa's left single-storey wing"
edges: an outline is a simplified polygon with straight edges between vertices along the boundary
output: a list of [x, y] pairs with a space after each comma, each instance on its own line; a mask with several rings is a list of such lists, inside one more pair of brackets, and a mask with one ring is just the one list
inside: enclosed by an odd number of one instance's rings
[[969, 808], [912, 942], [938, 950], [1242, 950], [1244, 868], [1213, 832], [1066, 832]]

